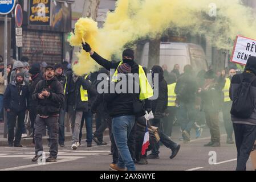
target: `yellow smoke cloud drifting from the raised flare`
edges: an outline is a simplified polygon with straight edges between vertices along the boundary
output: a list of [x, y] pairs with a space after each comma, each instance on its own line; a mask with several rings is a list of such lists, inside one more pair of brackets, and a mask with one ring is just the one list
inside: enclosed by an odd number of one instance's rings
[[[216, 18], [210, 18], [210, 3], [217, 7]], [[71, 36], [71, 46], [81, 46], [82, 38], [105, 59], [120, 55], [127, 43], [161, 35], [168, 28], [212, 38], [217, 48], [231, 49], [236, 35], [255, 39], [256, 26], [251, 9], [239, 0], [119, 0], [116, 10], [107, 14], [103, 28], [90, 18], [80, 18]], [[81, 50], [78, 75], [99, 67], [90, 55]]]

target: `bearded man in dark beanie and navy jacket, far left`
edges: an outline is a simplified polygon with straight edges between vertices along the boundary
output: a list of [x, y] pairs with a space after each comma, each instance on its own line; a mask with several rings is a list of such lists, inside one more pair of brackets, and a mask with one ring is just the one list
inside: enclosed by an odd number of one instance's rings
[[[29, 88], [24, 82], [24, 74], [17, 73], [15, 76], [15, 81], [12, 81], [9, 85], [7, 85], [5, 95], [3, 96], [3, 105], [7, 111], [9, 134], [8, 144], [10, 147], [22, 147], [22, 127], [24, 125], [28, 101]], [[18, 121], [18, 126], [15, 132], [14, 140], [14, 127], [16, 125], [16, 119]]]

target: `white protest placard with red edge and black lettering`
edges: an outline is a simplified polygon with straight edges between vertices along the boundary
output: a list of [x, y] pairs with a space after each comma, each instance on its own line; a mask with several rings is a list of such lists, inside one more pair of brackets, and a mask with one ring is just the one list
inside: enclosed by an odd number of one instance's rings
[[250, 56], [256, 56], [256, 40], [237, 36], [230, 61], [246, 65]]

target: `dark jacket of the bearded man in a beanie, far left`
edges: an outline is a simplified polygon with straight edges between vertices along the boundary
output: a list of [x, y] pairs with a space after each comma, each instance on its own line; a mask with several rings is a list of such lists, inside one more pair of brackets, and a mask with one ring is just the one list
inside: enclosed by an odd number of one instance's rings
[[23, 82], [22, 85], [17, 86], [15, 81], [12, 81], [5, 90], [3, 96], [3, 106], [5, 109], [19, 112], [27, 109], [29, 102], [29, 88]]

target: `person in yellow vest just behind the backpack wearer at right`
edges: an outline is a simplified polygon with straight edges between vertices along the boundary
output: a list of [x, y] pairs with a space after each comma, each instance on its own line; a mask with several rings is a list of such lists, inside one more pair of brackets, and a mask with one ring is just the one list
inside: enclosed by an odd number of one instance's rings
[[229, 70], [229, 75], [225, 79], [225, 86], [222, 89], [222, 92], [224, 92], [224, 104], [222, 106], [222, 113], [223, 113], [223, 120], [224, 120], [224, 126], [227, 133], [227, 140], [226, 143], [234, 143], [233, 142], [233, 125], [231, 122], [231, 115], [230, 115], [230, 109], [232, 105], [232, 101], [229, 98], [229, 88], [231, 84], [231, 78], [236, 74], [235, 69]]

